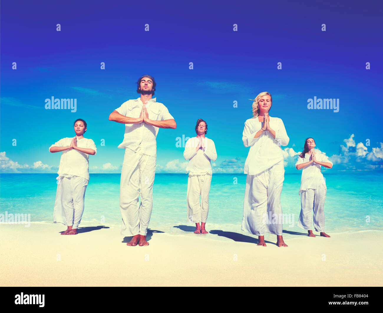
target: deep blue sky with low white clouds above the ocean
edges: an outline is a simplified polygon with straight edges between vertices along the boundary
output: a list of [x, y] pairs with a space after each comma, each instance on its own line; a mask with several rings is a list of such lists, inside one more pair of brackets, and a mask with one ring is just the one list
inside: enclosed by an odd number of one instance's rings
[[[273, 97], [270, 116], [282, 118], [290, 137], [286, 172], [296, 172], [309, 136], [334, 162], [331, 172], [382, 171], [382, 8], [373, 1], [3, 1], [1, 171], [57, 172], [61, 154], [48, 147], [74, 136], [73, 122], [83, 118], [85, 137], [98, 148], [90, 172], [120, 172], [124, 125], [108, 116], [139, 97], [143, 74], [155, 78], [154, 97], [177, 122], [159, 129], [157, 172], [185, 172], [177, 137], [194, 136], [198, 118], [216, 145], [213, 171], [243, 172], [248, 99], [263, 91]], [[52, 96], [76, 98], [77, 111], [46, 110]], [[339, 112], [309, 110], [314, 96], [339, 99]]]

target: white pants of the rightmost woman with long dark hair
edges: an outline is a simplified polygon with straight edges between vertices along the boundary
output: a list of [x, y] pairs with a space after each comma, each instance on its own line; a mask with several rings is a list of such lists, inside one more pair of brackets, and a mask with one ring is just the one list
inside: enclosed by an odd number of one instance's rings
[[324, 200], [326, 200], [326, 192], [327, 188], [324, 184], [318, 184], [316, 189], [307, 189], [301, 192], [301, 214], [298, 220], [300, 228], [311, 230], [311, 217], [313, 217], [315, 230], [319, 232], [324, 231]]

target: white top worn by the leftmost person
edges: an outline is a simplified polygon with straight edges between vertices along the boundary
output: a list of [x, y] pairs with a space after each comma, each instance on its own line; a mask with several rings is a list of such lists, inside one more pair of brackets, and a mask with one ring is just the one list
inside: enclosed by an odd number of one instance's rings
[[[49, 147], [66, 147], [70, 146], [74, 137], [62, 138], [57, 143]], [[81, 138], [77, 139], [77, 146], [85, 149], [93, 149], [97, 153], [97, 148], [92, 139]], [[96, 154], [95, 153], [95, 154]], [[60, 158], [59, 176], [70, 177], [72, 175], [83, 177], [89, 180], [89, 154], [71, 149], [62, 151]]]

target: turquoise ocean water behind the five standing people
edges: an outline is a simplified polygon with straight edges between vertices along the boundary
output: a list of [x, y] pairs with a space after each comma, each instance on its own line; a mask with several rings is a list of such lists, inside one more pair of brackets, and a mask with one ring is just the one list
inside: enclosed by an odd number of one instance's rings
[[[382, 230], [382, 174], [324, 176], [326, 233]], [[57, 174], [1, 174], [0, 213], [30, 214], [32, 225], [34, 222], [53, 223], [56, 177]], [[187, 174], [155, 175], [149, 225], [152, 232], [193, 234], [195, 224], [187, 222], [187, 178]], [[301, 174], [285, 174], [283, 182], [282, 210], [289, 216], [283, 225], [283, 235], [288, 237], [306, 234], [296, 226], [301, 209], [300, 179]], [[90, 174], [80, 227], [120, 227], [119, 181], [120, 174]], [[241, 230], [245, 184], [245, 174], [213, 174], [206, 223], [206, 229], [214, 235], [211, 239], [220, 239], [223, 232], [247, 234]], [[58, 226], [58, 231], [64, 228]]]

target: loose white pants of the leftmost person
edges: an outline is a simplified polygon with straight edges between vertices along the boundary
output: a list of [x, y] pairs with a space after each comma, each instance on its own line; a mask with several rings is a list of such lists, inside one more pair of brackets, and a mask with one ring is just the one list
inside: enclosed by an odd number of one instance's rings
[[59, 177], [53, 209], [54, 223], [72, 226], [73, 229], [79, 228], [87, 185], [88, 180], [83, 177]]

